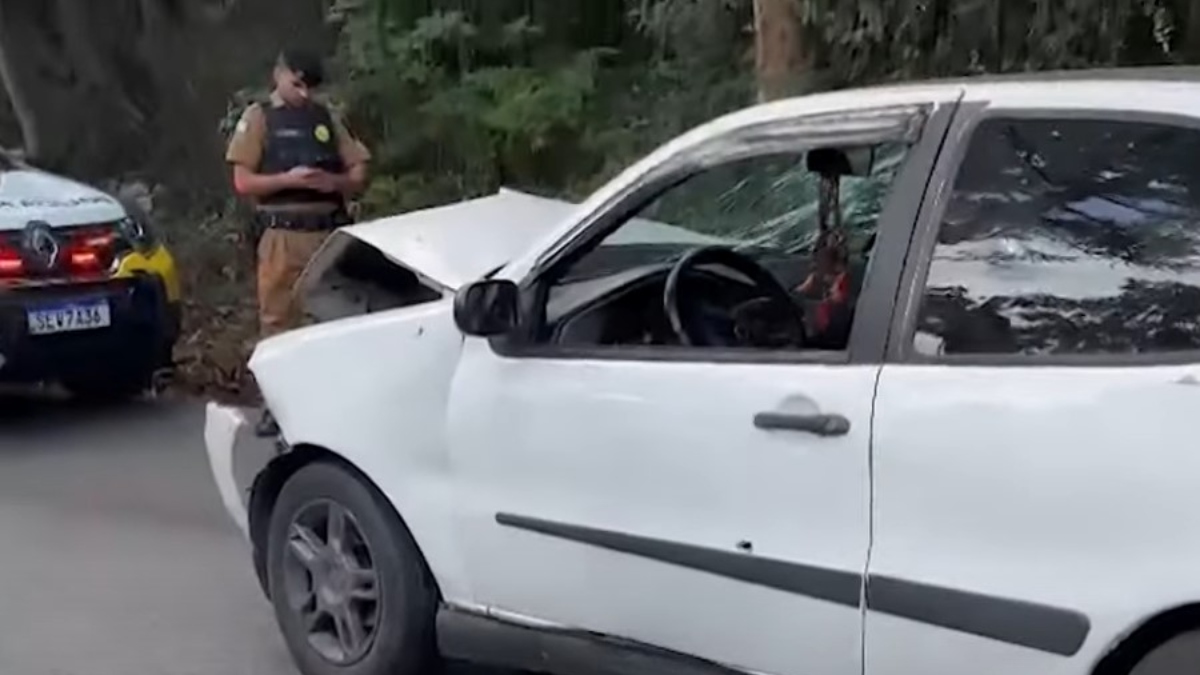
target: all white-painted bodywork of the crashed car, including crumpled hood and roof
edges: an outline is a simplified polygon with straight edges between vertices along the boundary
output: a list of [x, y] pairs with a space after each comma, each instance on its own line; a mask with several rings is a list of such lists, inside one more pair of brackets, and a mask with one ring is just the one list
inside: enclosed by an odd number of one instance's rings
[[[680, 153], [756, 124], [960, 98], [1200, 114], [1200, 89], [1170, 82], [823, 94], [700, 127], [577, 207], [521, 211], [502, 195], [355, 235], [449, 289], [510, 256], [498, 276], [521, 281]], [[380, 488], [452, 607], [772, 675], [1085, 675], [1146, 619], [1200, 602], [1189, 442], [1200, 364], [512, 359], [464, 340], [448, 293], [277, 336], [251, 369], [289, 443], [331, 449]], [[749, 423], [805, 406], [846, 414], [852, 434], [816, 440]], [[228, 467], [244, 420], [220, 406], [209, 414], [211, 465], [241, 524], [245, 489]], [[1076, 652], [1049, 653], [505, 528], [498, 512], [1067, 608], [1090, 631]]]

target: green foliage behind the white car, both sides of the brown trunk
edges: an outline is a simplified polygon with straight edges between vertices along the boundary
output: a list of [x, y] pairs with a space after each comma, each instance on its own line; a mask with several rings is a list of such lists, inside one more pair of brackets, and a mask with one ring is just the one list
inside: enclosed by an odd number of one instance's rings
[[[792, 1], [809, 89], [1200, 58], [1195, 0]], [[338, 0], [335, 13], [337, 95], [376, 155], [367, 214], [502, 185], [578, 197], [755, 94], [754, 0]]]

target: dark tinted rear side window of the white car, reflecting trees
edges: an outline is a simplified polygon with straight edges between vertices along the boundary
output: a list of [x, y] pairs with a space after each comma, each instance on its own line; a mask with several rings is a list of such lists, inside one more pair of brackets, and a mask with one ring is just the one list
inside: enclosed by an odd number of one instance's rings
[[940, 354], [1200, 348], [1200, 131], [990, 119], [954, 181], [914, 347]]

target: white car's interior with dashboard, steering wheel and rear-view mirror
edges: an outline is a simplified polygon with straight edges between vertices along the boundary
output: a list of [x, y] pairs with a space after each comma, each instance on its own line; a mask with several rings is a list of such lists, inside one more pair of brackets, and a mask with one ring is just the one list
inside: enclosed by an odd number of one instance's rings
[[[869, 227], [847, 234], [840, 186], [846, 177], [870, 175], [874, 149], [865, 162], [840, 149], [806, 154], [805, 169], [821, 186], [820, 233], [797, 250], [725, 245], [593, 250], [551, 288], [541, 339], [568, 347], [844, 351], [875, 247], [876, 223], [871, 219]], [[845, 273], [844, 300], [834, 306], [822, 306], [820, 292], [798, 292], [818, 271], [822, 247], [836, 250], [836, 269]], [[581, 273], [582, 268], [590, 273]], [[817, 321], [822, 313], [823, 321]]]

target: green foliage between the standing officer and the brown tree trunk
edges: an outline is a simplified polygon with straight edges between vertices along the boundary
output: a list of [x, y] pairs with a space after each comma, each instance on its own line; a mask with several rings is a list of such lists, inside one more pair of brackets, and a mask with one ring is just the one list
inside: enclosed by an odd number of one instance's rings
[[338, 94], [376, 155], [365, 213], [502, 185], [578, 196], [749, 100], [746, 42], [724, 20], [749, 0], [626, 5], [342, 4]]

